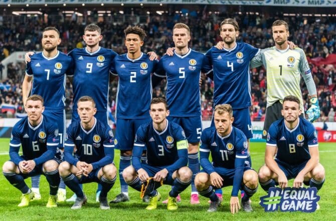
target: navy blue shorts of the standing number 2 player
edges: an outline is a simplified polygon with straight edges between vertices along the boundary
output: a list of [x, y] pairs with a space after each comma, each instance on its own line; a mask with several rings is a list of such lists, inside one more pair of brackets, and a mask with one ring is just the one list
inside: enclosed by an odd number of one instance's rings
[[116, 149], [132, 150], [137, 129], [148, 123], [151, 118], [123, 119], [117, 118], [114, 145]]

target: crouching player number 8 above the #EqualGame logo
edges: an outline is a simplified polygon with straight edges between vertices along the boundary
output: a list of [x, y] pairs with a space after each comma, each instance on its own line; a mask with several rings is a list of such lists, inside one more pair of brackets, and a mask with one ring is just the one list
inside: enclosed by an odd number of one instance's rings
[[318, 162], [314, 125], [299, 117], [300, 100], [296, 96], [289, 95], [283, 99], [281, 114], [283, 118], [273, 122], [268, 130], [265, 165], [259, 169], [261, 187], [268, 191], [278, 183], [281, 188], [285, 188], [288, 179], [294, 178], [293, 187], [299, 188], [304, 183], [320, 189], [325, 173]]

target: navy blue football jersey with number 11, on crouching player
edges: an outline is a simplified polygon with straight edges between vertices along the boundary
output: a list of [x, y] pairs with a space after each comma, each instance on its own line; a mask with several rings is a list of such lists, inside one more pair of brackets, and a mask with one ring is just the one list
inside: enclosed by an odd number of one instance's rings
[[231, 133], [225, 137], [219, 135], [215, 127], [204, 129], [201, 135], [201, 157], [202, 152], [210, 152], [214, 167], [235, 168], [236, 158], [246, 159], [249, 156], [247, 147], [246, 136], [234, 126]]

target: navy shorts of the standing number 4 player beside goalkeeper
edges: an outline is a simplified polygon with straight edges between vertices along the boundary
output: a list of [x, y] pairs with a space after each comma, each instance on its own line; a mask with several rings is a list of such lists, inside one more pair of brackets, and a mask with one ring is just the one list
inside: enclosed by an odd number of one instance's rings
[[[252, 131], [252, 122], [251, 122], [251, 116], [250, 116], [250, 108], [241, 108], [241, 109], [234, 109], [233, 110], [233, 117], [235, 118], [233, 120], [232, 125], [245, 134], [246, 138], [252, 138], [253, 137], [253, 131]], [[215, 126], [214, 123], [214, 116], [211, 120], [211, 126]]]

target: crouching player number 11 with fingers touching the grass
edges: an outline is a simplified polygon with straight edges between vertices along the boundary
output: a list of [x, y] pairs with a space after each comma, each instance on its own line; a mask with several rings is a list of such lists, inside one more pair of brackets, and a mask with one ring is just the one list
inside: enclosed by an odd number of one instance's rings
[[[197, 190], [211, 199], [208, 212], [217, 211], [221, 200], [214, 188], [233, 185], [230, 210], [238, 212], [239, 189], [245, 194], [241, 199], [244, 211], [252, 211], [249, 198], [257, 191], [258, 174], [251, 167], [244, 166], [248, 153], [248, 142], [244, 133], [232, 126], [234, 120], [230, 104], [219, 104], [214, 110], [215, 127], [203, 130], [201, 136], [200, 163], [203, 171], [195, 177]], [[211, 152], [213, 163], [209, 161]]]

